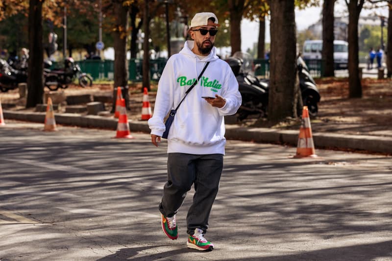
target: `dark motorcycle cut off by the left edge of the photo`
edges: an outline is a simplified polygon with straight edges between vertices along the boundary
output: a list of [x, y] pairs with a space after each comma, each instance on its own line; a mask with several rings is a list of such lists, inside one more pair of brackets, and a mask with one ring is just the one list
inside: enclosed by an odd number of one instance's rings
[[0, 59], [0, 91], [8, 92], [18, 88], [18, 84], [27, 82], [26, 71], [12, 68], [8, 62]]

